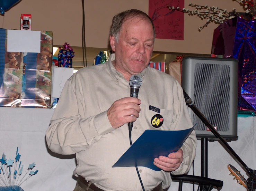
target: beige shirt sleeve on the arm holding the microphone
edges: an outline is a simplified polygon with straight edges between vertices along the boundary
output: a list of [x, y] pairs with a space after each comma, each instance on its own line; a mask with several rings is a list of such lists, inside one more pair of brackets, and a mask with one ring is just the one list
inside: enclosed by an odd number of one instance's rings
[[88, 118], [81, 115], [86, 109], [83, 98], [76, 94], [76, 91], [82, 90], [76, 89], [75, 78], [73, 75], [65, 83], [46, 131], [49, 149], [59, 154], [84, 151], [101, 136], [115, 130], [108, 120], [107, 111]]

